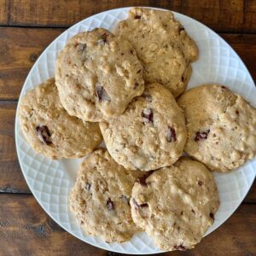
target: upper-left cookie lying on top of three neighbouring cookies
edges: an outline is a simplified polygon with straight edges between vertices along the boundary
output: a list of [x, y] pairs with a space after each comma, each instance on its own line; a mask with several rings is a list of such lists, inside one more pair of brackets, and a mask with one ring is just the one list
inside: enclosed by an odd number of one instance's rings
[[103, 28], [68, 40], [57, 57], [55, 79], [67, 112], [91, 122], [123, 113], [144, 90], [136, 51]]

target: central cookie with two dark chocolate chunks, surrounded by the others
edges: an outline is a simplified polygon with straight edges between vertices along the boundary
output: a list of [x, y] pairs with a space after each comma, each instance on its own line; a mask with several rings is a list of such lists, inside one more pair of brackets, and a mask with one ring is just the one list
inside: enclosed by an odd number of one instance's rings
[[126, 169], [150, 171], [172, 165], [183, 152], [187, 132], [182, 109], [158, 83], [146, 84], [125, 113], [100, 123], [108, 152]]

